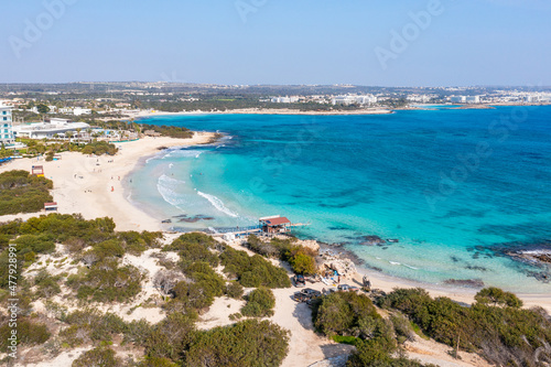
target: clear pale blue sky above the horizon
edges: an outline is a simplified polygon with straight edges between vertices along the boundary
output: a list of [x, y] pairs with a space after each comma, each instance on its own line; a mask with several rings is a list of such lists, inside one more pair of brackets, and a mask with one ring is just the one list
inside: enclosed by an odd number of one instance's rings
[[550, 86], [549, 0], [2, 0], [0, 83]]

